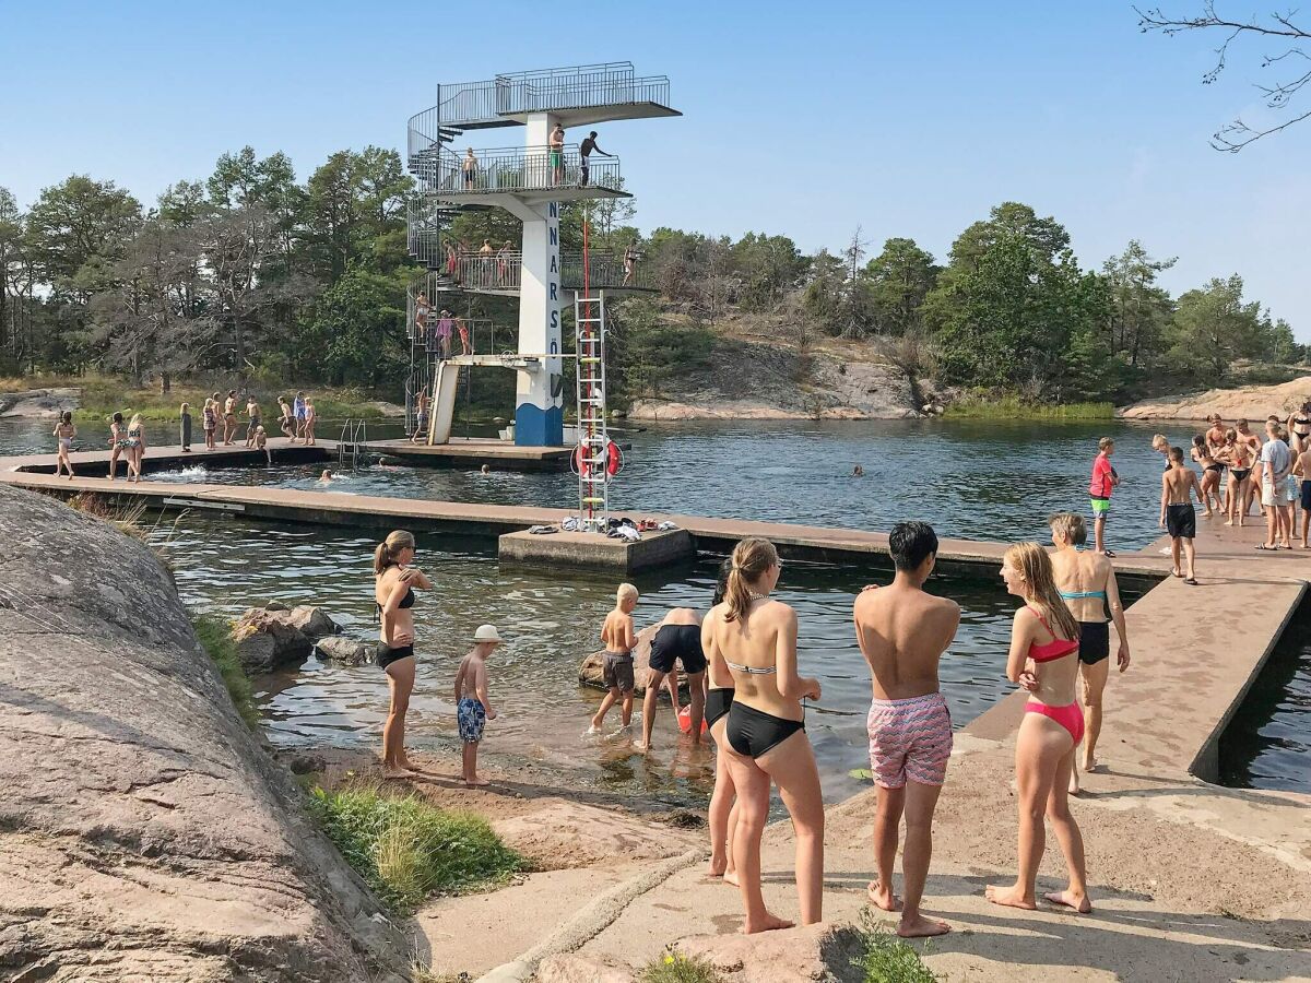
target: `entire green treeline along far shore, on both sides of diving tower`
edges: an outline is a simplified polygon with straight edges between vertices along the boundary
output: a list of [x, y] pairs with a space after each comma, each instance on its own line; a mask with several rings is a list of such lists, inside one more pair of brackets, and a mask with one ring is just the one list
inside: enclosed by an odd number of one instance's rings
[[[166, 384], [224, 371], [397, 395], [414, 194], [400, 156], [376, 147], [334, 153], [304, 182], [286, 155], [248, 147], [149, 207], [85, 176], [26, 212], [0, 189], [0, 374], [94, 368]], [[593, 248], [636, 246], [661, 291], [614, 308], [623, 388], [628, 360], [657, 381], [704, 360], [705, 322], [730, 311], [783, 313], [783, 334], [801, 345], [872, 339], [920, 377], [1036, 401], [1124, 400], [1148, 383], [1224, 383], [1243, 360], [1307, 359], [1236, 274], [1175, 298], [1159, 283], [1175, 260], [1138, 241], [1086, 269], [1065, 227], [1015, 202], [966, 228], [944, 263], [899, 237], [871, 256], [859, 229], [846, 249], [806, 256], [787, 236], [644, 236], [628, 199], [583, 207], [562, 210], [562, 246], [581, 246], [586, 214]], [[492, 208], [463, 214], [451, 233], [477, 248], [518, 242], [519, 225]], [[503, 299], [463, 304], [514, 318]], [[671, 308], [690, 317], [674, 325]], [[513, 387], [499, 375], [497, 393]]]

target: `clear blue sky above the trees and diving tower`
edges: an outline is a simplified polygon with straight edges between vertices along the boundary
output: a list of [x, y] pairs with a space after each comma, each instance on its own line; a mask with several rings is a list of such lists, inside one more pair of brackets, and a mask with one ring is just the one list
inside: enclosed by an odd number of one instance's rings
[[909, 236], [941, 258], [1017, 199], [1065, 223], [1084, 265], [1137, 237], [1180, 257], [1176, 292], [1239, 273], [1311, 341], [1311, 122], [1210, 149], [1218, 126], [1264, 111], [1260, 47], [1201, 85], [1215, 43], [1141, 34], [1105, 0], [0, 0], [0, 185], [28, 204], [89, 173], [152, 202], [248, 143], [303, 178], [343, 147], [402, 148], [439, 81], [628, 59], [669, 75], [686, 114], [600, 127], [644, 229], [777, 232], [809, 252], [860, 224], [874, 249]]

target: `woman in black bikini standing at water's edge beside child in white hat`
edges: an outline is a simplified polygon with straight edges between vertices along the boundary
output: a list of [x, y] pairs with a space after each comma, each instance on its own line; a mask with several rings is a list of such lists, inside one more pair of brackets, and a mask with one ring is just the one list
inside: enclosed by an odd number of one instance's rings
[[374, 604], [379, 615], [378, 665], [387, 674], [391, 706], [383, 726], [383, 776], [404, 777], [417, 768], [405, 756], [405, 713], [414, 691], [414, 587], [433, 583], [414, 562], [414, 536], [391, 532], [374, 550]]

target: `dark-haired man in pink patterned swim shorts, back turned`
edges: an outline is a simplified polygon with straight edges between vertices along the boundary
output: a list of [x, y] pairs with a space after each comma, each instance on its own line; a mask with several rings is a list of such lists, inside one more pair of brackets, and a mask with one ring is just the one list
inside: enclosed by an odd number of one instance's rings
[[[898, 523], [888, 547], [895, 578], [886, 587], [867, 587], [855, 608], [856, 640], [873, 674], [869, 764], [878, 786], [878, 881], [869, 885], [869, 900], [884, 911], [902, 912], [897, 935], [922, 938], [950, 931], [945, 921], [924, 917], [919, 903], [933, 852], [933, 809], [952, 756], [952, 716], [937, 689], [937, 662], [956, 637], [961, 608], [923, 590], [937, 560], [937, 536], [928, 524]], [[903, 813], [905, 907], [893, 894]]]

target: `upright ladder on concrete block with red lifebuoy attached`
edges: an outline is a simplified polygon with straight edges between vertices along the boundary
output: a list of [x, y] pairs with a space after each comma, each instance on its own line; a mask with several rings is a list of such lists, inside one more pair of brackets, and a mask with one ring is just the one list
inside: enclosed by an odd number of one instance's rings
[[610, 526], [610, 436], [606, 434], [606, 291], [574, 294], [578, 371], [578, 509], [585, 532]]

